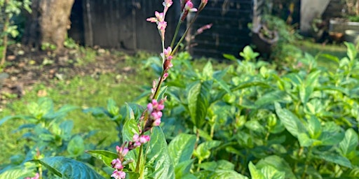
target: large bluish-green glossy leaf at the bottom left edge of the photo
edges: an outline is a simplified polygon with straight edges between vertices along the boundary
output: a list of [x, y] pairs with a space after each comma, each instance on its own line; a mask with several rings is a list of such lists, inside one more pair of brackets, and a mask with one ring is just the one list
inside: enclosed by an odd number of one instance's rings
[[103, 178], [86, 164], [74, 159], [65, 157], [45, 157], [43, 159], [33, 159], [32, 161], [45, 166], [51, 173], [54, 173], [61, 178]]

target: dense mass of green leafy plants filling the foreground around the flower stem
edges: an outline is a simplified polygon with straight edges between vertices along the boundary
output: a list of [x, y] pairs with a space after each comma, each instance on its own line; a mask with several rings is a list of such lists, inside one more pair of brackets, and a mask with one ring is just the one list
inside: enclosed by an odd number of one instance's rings
[[[249, 47], [241, 52], [243, 60], [235, 59], [226, 69], [215, 71], [208, 62], [198, 71], [191, 57], [180, 53], [172, 61], [167, 91], [161, 93], [168, 96], [163, 122], [144, 145], [145, 176], [358, 178], [359, 62], [354, 45], [346, 45], [347, 57], [322, 55], [336, 62], [336, 71], [318, 67], [316, 57], [306, 54], [295, 68], [278, 73], [271, 64], [257, 61], [258, 54]], [[148, 62], [144, 69], [161, 72], [159, 58]], [[144, 96], [148, 94], [140, 98]], [[76, 108], [52, 106], [50, 99], [40, 99], [29, 105], [32, 115], [0, 121], [25, 120], [19, 130], [28, 131], [22, 138], [29, 141], [24, 154], [1, 167], [0, 178], [36, 172], [45, 178], [109, 176], [118, 143], [109, 148], [102, 141], [86, 143], [95, 131], [72, 134], [72, 120], [65, 117]], [[109, 100], [107, 107], [83, 112], [113, 121], [121, 143], [138, 132], [136, 119], [143, 108], [133, 103], [118, 107]], [[100, 148], [110, 151], [96, 150]], [[126, 168], [129, 178], [138, 177], [133, 172], [135, 151], [126, 155], [133, 159]], [[55, 157], [59, 155], [65, 157]]]

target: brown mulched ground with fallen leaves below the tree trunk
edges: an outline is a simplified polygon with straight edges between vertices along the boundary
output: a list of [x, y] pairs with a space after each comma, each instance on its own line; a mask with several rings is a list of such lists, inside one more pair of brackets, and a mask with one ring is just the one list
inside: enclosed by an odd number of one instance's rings
[[[12, 45], [7, 52], [7, 66], [0, 73], [0, 109], [6, 103], [21, 98], [37, 83], [50, 85], [50, 80], [68, 80], [74, 76], [98, 76], [103, 73], [135, 73], [122, 66], [126, 56], [114, 55], [109, 50], [97, 48], [95, 60], [81, 64], [85, 53], [65, 49], [61, 52], [30, 50]], [[43, 94], [39, 94], [41, 96]]]

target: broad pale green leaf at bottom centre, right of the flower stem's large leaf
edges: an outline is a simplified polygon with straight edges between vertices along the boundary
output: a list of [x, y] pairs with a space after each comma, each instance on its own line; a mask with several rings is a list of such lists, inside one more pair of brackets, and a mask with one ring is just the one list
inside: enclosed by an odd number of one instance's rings
[[196, 136], [190, 134], [182, 133], [172, 139], [168, 145], [168, 152], [175, 166], [191, 159], [195, 143]]

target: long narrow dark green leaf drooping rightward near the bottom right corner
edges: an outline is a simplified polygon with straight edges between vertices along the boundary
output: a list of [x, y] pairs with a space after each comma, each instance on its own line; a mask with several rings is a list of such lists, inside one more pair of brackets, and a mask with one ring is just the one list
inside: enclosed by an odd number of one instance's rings
[[334, 152], [322, 152], [316, 151], [313, 152], [313, 157], [318, 159], [324, 159], [327, 162], [332, 162], [334, 164], [339, 164], [348, 168], [352, 168], [351, 162], [346, 157], [341, 157], [341, 155]]

